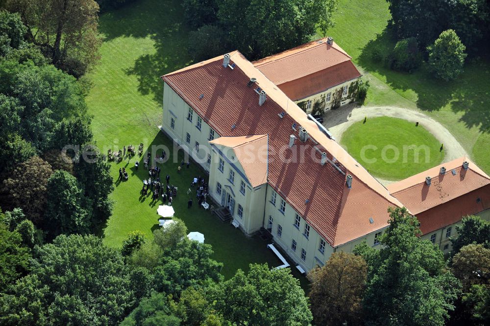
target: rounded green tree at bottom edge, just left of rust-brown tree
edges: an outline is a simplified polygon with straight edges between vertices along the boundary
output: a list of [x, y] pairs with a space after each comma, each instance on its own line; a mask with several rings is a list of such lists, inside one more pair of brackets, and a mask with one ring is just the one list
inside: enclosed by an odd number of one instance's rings
[[307, 326], [312, 321], [299, 280], [286, 269], [251, 264], [218, 285], [215, 308], [236, 325]]

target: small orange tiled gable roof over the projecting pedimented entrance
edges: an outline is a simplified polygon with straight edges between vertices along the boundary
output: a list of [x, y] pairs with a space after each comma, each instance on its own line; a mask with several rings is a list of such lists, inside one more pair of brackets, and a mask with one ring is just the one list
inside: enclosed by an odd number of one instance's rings
[[210, 141], [210, 143], [226, 146], [235, 151], [235, 155], [252, 187], [255, 188], [267, 183], [267, 135], [220, 137]]

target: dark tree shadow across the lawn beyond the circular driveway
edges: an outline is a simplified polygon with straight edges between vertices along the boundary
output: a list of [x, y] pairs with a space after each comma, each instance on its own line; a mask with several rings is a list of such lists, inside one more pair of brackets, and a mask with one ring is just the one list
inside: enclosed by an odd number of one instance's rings
[[427, 63], [411, 74], [390, 69], [388, 56], [395, 44], [396, 37], [388, 26], [363, 48], [359, 64], [368, 72], [384, 76], [392, 89], [413, 91], [421, 110], [463, 112], [460, 121], [467, 128], [476, 126], [481, 131], [490, 128], [487, 104], [490, 100], [490, 57], [468, 59], [463, 74], [445, 82], [434, 77]]

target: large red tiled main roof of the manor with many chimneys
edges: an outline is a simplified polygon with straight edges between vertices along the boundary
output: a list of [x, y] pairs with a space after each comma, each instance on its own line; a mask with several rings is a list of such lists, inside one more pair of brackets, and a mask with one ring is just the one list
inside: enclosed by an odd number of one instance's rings
[[[233, 70], [223, 68], [222, 57], [216, 57], [162, 79], [221, 136], [267, 134], [268, 183], [331, 246], [387, 226], [388, 207], [401, 203], [240, 52], [230, 55], [236, 65]], [[262, 106], [254, 88], [246, 85], [251, 77], [257, 78], [254, 87], [267, 93]], [[204, 97], [199, 99], [201, 94]], [[278, 116], [281, 112], [286, 113], [283, 118]], [[300, 125], [310, 137], [305, 143], [296, 139], [289, 148], [290, 135], [297, 137]], [[307, 153], [303, 161], [287, 161], [301, 151]], [[322, 151], [330, 160], [323, 166], [319, 163]], [[351, 189], [345, 185], [346, 174], [353, 176]], [[375, 225], [369, 224], [370, 217]]]

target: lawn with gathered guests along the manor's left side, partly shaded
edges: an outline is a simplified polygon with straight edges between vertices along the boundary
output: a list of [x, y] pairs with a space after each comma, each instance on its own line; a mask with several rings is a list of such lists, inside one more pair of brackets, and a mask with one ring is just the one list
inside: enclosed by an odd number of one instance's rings
[[[129, 144], [137, 147], [140, 142], [144, 143], [145, 150], [150, 145], [172, 148], [172, 142], [158, 128], [162, 120], [163, 95], [159, 76], [191, 63], [185, 48], [188, 31], [183, 25], [180, 1], [136, 1], [121, 10], [101, 15], [99, 24], [105, 37], [100, 48], [101, 59], [87, 75], [92, 83], [87, 103], [93, 115], [92, 127], [98, 146], [103, 152]], [[171, 153], [171, 160], [161, 165], [161, 176], [169, 174], [171, 183], [179, 188], [173, 201], [175, 217], [182, 219], [189, 231], [204, 234], [205, 243], [213, 246], [214, 258], [224, 264], [222, 274], [229, 278], [239, 268], [248, 270], [250, 263], [280, 265], [267, 250], [266, 243], [247, 238], [234, 227], [222, 224], [208, 211], [199, 209], [196, 201], [192, 209], [187, 209], [188, 199], [195, 199], [194, 192], [186, 194], [191, 178], [204, 176], [204, 172], [191, 164], [189, 169], [177, 174], [172, 156]], [[134, 168], [136, 160], [141, 163], [138, 171]], [[121, 167], [126, 168], [129, 179], [115, 182], [111, 194], [113, 215], [103, 234], [104, 243], [111, 247], [121, 246], [130, 231], [139, 229], [151, 237], [152, 230], [158, 227], [159, 203], [140, 194], [142, 180], [148, 177], [142, 158], [136, 156], [119, 164], [112, 163], [115, 181]], [[306, 288], [305, 278], [300, 280]]]

